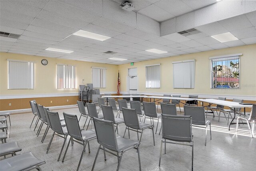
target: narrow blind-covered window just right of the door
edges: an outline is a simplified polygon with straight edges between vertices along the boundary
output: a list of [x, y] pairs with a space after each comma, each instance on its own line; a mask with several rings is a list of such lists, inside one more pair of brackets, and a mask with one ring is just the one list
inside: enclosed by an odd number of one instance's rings
[[146, 88], [160, 88], [160, 64], [146, 66]]

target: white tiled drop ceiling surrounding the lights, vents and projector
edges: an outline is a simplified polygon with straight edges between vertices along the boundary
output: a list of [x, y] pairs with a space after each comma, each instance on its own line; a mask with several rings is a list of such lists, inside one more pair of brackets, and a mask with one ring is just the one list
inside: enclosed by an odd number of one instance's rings
[[[1, 0], [0, 31], [20, 37], [1, 36], [0, 52], [118, 65], [256, 43], [255, 0], [130, 0], [132, 12], [123, 10], [122, 2]], [[192, 28], [199, 33], [178, 34]], [[73, 35], [78, 30], [110, 38]], [[238, 40], [221, 43], [211, 37], [226, 32]], [[146, 51], [153, 48], [167, 53]]]

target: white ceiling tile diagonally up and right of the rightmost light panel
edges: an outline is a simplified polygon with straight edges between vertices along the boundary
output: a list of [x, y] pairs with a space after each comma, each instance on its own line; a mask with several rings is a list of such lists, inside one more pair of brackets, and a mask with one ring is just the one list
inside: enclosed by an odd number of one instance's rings
[[243, 28], [252, 27], [252, 24], [246, 18], [245, 15], [235, 16], [232, 18], [228, 18], [226, 20], [221, 20], [221, 21], [218, 21], [218, 23], [220, 23], [222, 26], [224, 26], [229, 31], [240, 30]]

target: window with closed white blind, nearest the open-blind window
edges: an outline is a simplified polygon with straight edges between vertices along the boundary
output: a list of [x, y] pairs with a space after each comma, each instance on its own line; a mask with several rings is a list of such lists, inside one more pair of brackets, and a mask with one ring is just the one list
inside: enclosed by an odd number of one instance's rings
[[173, 64], [173, 87], [195, 87], [195, 60], [172, 62]]

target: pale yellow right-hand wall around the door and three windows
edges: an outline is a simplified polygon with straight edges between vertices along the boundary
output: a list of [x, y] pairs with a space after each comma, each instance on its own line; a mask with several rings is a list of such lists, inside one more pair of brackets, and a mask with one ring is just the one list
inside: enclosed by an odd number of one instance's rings
[[[210, 57], [228, 54], [243, 55], [240, 58], [240, 89], [211, 89]], [[172, 62], [182, 60], [196, 60], [195, 88], [194, 89], [174, 89], [173, 88], [173, 68]], [[160, 88], [145, 88], [146, 65], [161, 64]], [[138, 91], [139, 92], [158, 92], [158, 93], [193, 93], [193, 94], [222, 94], [222, 95], [256, 95], [256, 44], [212, 50], [194, 54], [186, 54], [134, 62], [134, 66], [123, 64], [118, 66], [120, 70], [120, 90], [127, 91], [128, 68], [137, 68], [138, 72]]]

